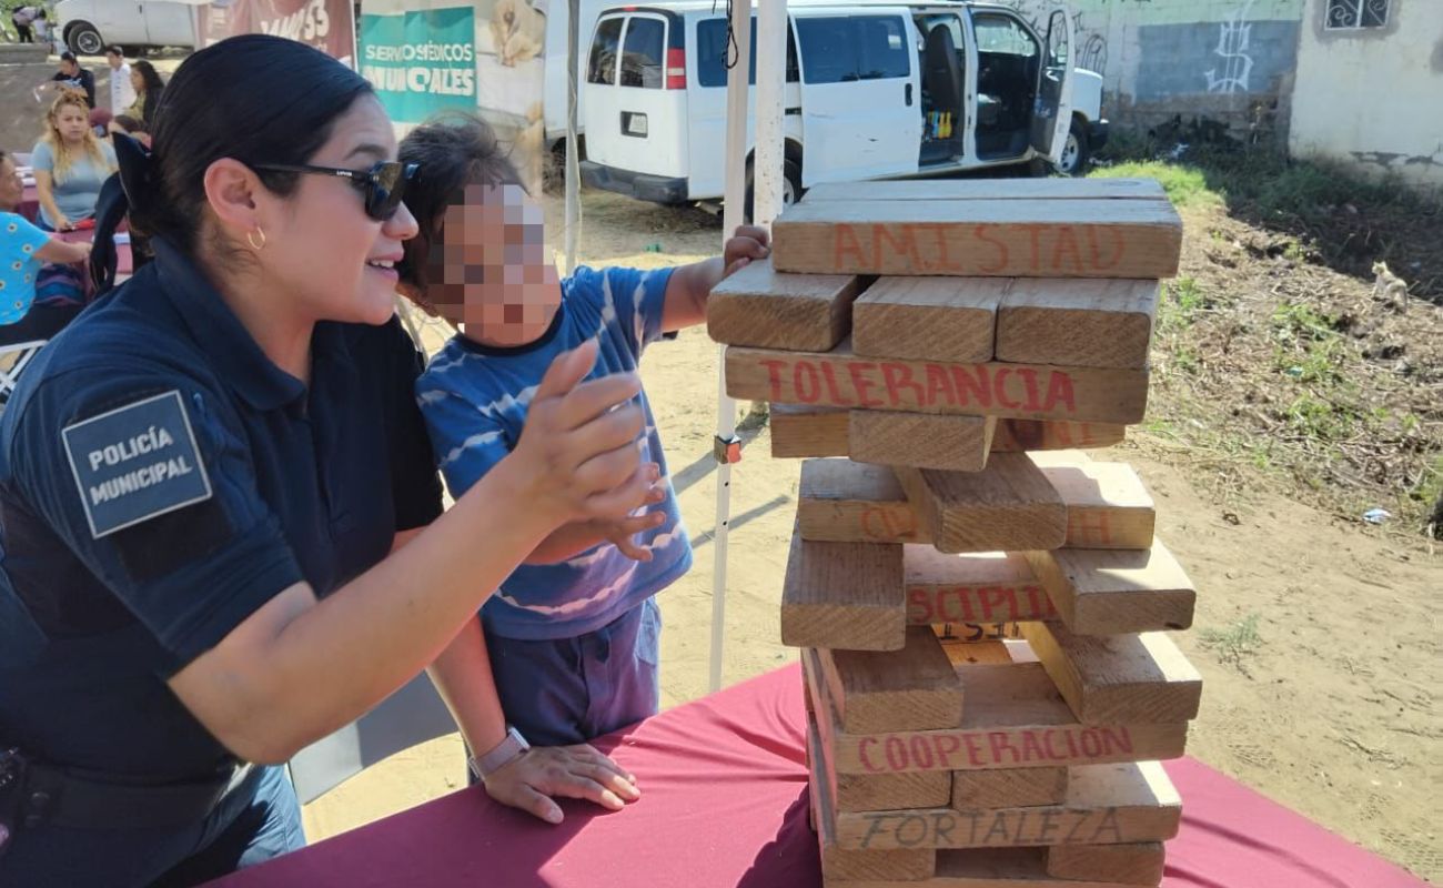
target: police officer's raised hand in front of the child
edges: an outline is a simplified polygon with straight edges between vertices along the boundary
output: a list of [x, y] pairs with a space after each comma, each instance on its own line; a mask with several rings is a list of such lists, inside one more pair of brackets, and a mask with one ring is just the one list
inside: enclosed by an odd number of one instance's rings
[[554, 526], [623, 518], [646, 502], [655, 482], [638, 446], [644, 417], [635, 374], [582, 383], [596, 362], [596, 341], [551, 362], [527, 412], [515, 450], [502, 461], [522, 485], [519, 502]]

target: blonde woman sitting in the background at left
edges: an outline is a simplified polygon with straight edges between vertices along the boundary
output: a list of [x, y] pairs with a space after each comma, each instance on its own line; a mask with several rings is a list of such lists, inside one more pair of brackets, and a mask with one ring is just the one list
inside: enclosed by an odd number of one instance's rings
[[115, 172], [115, 149], [95, 137], [85, 95], [65, 91], [51, 104], [30, 166], [42, 228], [71, 231], [95, 215], [100, 186]]

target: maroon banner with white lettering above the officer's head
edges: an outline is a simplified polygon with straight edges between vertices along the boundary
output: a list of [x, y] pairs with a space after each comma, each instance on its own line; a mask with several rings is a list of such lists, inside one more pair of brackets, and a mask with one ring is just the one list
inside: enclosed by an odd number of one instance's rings
[[351, 0], [219, 0], [196, 7], [196, 30], [201, 46], [242, 33], [290, 38], [355, 68]]

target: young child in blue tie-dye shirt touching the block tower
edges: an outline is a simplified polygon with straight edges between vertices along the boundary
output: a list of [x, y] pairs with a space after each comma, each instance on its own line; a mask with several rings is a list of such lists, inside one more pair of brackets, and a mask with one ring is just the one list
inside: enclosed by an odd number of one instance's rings
[[[636, 373], [648, 344], [706, 319], [717, 282], [768, 256], [766, 232], [740, 228], [719, 258], [655, 271], [582, 267], [561, 282], [541, 208], [486, 124], [423, 126], [401, 143], [401, 160], [423, 170], [407, 189], [420, 235], [407, 243], [401, 290], [462, 325], [417, 381], [456, 497], [515, 446], [556, 355], [596, 338], [593, 377]], [[639, 397], [638, 446], [657, 466], [652, 501], [623, 521], [548, 537], [431, 667], [488, 793], [553, 823], [561, 810], [551, 796], [612, 809], [638, 797], [635, 780], [586, 741], [657, 712], [654, 596], [691, 566], [657, 425]]]

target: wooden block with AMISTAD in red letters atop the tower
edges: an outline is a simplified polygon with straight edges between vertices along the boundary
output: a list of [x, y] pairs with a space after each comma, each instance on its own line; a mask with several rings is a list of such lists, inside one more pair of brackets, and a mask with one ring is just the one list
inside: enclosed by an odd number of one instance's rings
[[772, 222], [778, 271], [964, 277], [1172, 277], [1166, 201], [817, 201]]

